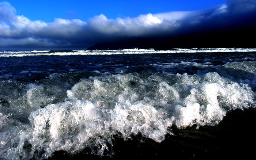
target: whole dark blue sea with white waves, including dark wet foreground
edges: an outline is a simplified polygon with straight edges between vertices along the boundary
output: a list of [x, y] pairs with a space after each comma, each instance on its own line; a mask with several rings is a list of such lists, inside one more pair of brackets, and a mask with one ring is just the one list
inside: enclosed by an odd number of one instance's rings
[[0, 51], [0, 159], [246, 159], [256, 49]]

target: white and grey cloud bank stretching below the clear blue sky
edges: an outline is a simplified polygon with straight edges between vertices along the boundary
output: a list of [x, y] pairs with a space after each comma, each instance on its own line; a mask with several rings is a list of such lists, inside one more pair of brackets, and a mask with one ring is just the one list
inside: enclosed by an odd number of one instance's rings
[[55, 18], [51, 23], [16, 15], [16, 9], [4, 1], [0, 3], [0, 50], [86, 49], [96, 43], [132, 38], [253, 30], [255, 23], [256, 0], [227, 0], [225, 4], [199, 11], [148, 13], [116, 19], [101, 14], [88, 22]]

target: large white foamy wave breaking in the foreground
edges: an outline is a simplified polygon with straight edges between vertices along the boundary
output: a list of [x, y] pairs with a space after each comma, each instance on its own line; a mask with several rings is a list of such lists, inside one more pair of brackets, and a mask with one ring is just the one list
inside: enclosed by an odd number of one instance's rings
[[[56, 151], [72, 155], [84, 148], [108, 156], [114, 154], [114, 136], [126, 140], [142, 134], [162, 142], [166, 134], [172, 134], [172, 126], [214, 126], [230, 110], [255, 107], [255, 92], [250, 87], [256, 84], [253, 65], [235, 62], [218, 66], [221, 75], [208, 72], [212, 66], [179, 64], [189, 65], [202, 72], [94, 72], [70, 88], [63, 86], [74, 82], [74, 75], [37, 84], [2, 81], [0, 157], [47, 159]], [[234, 80], [232, 75], [238, 72], [233, 68], [251, 74]]]

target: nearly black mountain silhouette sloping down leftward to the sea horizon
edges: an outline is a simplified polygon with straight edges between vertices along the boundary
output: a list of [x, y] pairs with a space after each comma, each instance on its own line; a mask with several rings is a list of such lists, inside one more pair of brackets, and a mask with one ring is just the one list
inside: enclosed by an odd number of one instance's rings
[[200, 32], [180, 37], [130, 38], [113, 42], [97, 43], [87, 50], [95, 49], [172, 49], [172, 48], [255, 48], [253, 41], [256, 31], [231, 30], [220, 32]]

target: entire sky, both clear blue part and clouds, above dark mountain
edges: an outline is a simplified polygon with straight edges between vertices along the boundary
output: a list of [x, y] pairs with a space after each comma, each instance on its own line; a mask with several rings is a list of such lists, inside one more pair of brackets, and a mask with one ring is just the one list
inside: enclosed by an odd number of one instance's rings
[[0, 0], [0, 50], [253, 30], [256, 0]]

